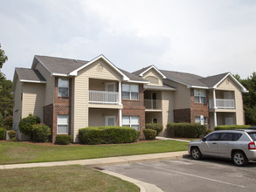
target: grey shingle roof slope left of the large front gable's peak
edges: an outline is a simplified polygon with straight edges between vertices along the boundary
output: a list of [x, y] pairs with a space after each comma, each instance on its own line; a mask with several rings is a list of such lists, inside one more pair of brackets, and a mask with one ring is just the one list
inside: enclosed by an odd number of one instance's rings
[[49, 56], [38, 56], [37, 58], [52, 73], [68, 74], [85, 65], [88, 61], [71, 58], [55, 58]]

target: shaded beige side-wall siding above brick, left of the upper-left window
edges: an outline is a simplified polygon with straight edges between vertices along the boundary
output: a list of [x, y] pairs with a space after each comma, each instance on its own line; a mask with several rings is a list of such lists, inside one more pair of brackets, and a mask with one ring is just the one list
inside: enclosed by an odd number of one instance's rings
[[54, 100], [54, 86], [55, 86], [55, 77], [51, 76], [51, 73], [45, 69], [41, 63], [38, 63], [35, 67], [46, 79], [45, 85], [45, 106], [48, 106], [53, 103]]

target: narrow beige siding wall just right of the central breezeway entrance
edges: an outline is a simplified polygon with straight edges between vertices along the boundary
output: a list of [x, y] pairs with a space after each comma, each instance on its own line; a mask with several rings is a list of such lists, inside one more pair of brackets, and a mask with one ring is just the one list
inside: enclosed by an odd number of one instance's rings
[[173, 106], [174, 106], [174, 93], [163, 91], [162, 92], [162, 117], [163, 117], [163, 133], [161, 135], [166, 136], [166, 126], [173, 120]]

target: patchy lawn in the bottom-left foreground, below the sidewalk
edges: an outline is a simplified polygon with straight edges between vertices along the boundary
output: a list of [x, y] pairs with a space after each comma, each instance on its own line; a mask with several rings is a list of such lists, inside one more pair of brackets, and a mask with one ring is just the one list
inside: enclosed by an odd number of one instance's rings
[[1, 192], [140, 190], [133, 183], [80, 165], [0, 170], [0, 189]]

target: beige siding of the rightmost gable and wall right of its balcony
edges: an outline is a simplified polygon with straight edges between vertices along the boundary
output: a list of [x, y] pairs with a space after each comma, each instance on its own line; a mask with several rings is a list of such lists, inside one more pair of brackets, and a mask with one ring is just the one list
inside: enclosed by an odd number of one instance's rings
[[217, 90], [234, 91], [237, 125], [244, 125], [244, 106], [240, 87], [228, 77], [218, 85]]

